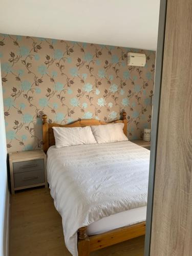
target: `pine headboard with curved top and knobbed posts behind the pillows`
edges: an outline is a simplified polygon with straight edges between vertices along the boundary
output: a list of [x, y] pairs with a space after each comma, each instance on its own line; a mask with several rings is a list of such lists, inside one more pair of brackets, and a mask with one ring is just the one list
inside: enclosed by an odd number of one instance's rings
[[[122, 120], [116, 120], [110, 123], [124, 123], [123, 132], [126, 135], [127, 132], [127, 120], [126, 120], [126, 112], [122, 113]], [[43, 142], [43, 149], [46, 153], [50, 146], [55, 145], [55, 138], [53, 134], [53, 126], [59, 127], [83, 127], [83, 126], [91, 126], [91, 125], [99, 125], [99, 124], [108, 124], [106, 122], [102, 122], [96, 119], [81, 119], [75, 121], [70, 124], [59, 124], [59, 123], [48, 123], [47, 122], [47, 115], [42, 115], [42, 142]]]

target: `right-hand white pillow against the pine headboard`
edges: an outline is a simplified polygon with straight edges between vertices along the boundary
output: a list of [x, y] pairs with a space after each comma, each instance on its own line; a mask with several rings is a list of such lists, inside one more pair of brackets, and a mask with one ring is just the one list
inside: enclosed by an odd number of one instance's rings
[[93, 125], [91, 130], [97, 143], [110, 143], [128, 140], [123, 133], [124, 123]]

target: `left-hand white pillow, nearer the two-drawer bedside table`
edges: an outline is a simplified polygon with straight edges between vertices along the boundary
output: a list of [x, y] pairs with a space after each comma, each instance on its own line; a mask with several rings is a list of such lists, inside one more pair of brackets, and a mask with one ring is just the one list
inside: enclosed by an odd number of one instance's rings
[[56, 148], [97, 143], [90, 126], [53, 127]]

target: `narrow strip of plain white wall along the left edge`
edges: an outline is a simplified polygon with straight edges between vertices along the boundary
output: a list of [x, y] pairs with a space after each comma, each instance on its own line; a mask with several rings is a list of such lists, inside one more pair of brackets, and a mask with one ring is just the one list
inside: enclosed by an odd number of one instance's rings
[[7, 147], [0, 69], [0, 256], [8, 255], [9, 191], [7, 185]]

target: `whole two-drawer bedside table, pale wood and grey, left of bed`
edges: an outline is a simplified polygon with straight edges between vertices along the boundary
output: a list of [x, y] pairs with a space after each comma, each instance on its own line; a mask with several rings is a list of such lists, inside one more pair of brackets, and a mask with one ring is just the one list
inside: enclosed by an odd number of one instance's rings
[[43, 150], [10, 153], [11, 193], [29, 187], [48, 187], [46, 162]]

